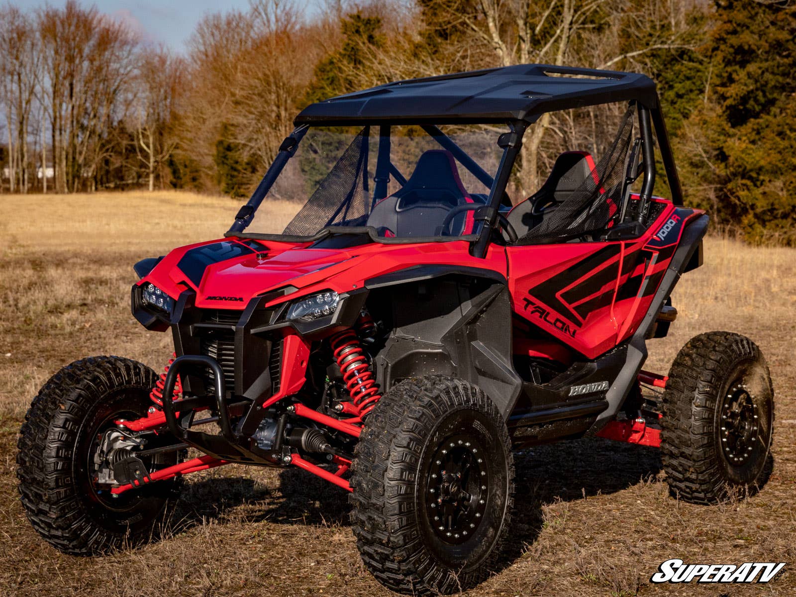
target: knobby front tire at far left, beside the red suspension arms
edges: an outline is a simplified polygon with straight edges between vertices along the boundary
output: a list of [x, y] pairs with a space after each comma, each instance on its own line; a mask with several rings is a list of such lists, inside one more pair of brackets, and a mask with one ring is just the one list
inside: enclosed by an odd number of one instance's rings
[[[33, 399], [18, 441], [19, 493], [33, 528], [61, 552], [93, 556], [158, 533], [178, 481], [115, 498], [92, 482], [98, 435], [115, 419], [145, 416], [154, 383], [154, 371], [137, 361], [91, 357], [61, 369]], [[168, 466], [177, 458], [153, 462]]]

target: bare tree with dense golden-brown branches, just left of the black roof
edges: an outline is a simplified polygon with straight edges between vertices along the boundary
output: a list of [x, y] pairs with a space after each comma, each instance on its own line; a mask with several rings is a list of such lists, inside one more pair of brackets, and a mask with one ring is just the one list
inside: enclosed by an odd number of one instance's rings
[[214, 181], [217, 143], [232, 142], [263, 170], [291, 129], [297, 103], [330, 35], [288, 2], [253, 0], [246, 13], [209, 14], [189, 41], [179, 153]]

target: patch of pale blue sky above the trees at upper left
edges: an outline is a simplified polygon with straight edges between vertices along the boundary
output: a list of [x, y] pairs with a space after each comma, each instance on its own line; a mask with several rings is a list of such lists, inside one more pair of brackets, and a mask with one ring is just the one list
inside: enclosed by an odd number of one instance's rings
[[[44, 0], [12, 0], [15, 6], [23, 10], [33, 10], [45, 4]], [[50, 6], [62, 6], [62, 0], [49, 0]], [[155, 43], [162, 41], [171, 48], [181, 51], [185, 42], [193, 32], [197, 22], [206, 13], [222, 12], [237, 8], [248, 9], [248, 0], [84, 0], [84, 6], [94, 4], [103, 13], [122, 18], [131, 26], [139, 29], [146, 41]]]

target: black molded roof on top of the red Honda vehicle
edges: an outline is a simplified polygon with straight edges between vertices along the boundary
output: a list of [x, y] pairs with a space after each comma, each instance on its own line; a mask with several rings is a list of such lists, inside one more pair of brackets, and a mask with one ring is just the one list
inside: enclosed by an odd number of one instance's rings
[[396, 81], [312, 103], [295, 124], [489, 123], [572, 107], [638, 100], [657, 107], [655, 83], [637, 72], [518, 64]]

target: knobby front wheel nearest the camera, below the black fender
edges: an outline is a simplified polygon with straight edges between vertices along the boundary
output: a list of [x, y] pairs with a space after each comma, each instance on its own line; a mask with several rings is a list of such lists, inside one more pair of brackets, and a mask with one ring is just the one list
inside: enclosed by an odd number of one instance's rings
[[505, 422], [481, 389], [440, 376], [396, 384], [355, 455], [353, 532], [380, 583], [447, 594], [494, 570], [514, 469]]

